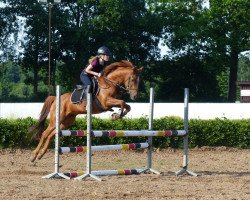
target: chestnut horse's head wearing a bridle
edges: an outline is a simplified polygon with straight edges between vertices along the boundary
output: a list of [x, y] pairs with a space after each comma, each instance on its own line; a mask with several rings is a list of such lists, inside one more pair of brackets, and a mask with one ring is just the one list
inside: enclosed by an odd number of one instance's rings
[[133, 67], [132, 70], [130, 70], [131, 72], [126, 74], [124, 85], [130, 95], [131, 100], [136, 100], [139, 95], [140, 73], [142, 70], [143, 67], [139, 69]]

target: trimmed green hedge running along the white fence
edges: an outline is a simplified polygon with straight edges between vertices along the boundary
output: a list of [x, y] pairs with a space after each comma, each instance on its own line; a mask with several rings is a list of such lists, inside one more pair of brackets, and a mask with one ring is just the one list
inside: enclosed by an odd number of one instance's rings
[[[0, 147], [1, 148], [30, 148], [38, 143], [28, 128], [37, 123], [31, 118], [25, 119], [0, 119]], [[177, 117], [164, 117], [154, 120], [154, 130], [183, 129], [183, 119]], [[140, 130], [148, 128], [147, 118], [122, 119], [111, 121], [109, 119], [93, 118], [92, 128], [94, 130]], [[86, 118], [77, 119], [71, 130], [86, 130]], [[131, 142], [143, 142], [144, 137], [122, 137], [122, 138], [94, 138], [93, 145], [122, 144]], [[154, 137], [154, 147], [181, 148], [183, 140], [181, 137]], [[53, 143], [51, 148], [53, 148]], [[83, 146], [86, 145], [86, 137], [63, 137], [61, 146]], [[250, 147], [250, 119], [228, 120], [213, 119], [189, 120], [189, 147], [202, 146], [226, 146], [235, 148]]]

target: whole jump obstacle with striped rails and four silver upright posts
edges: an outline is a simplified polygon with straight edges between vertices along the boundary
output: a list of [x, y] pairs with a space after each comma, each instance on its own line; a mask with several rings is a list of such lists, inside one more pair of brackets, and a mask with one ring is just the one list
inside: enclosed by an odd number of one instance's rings
[[[159, 171], [152, 168], [152, 138], [153, 137], [171, 137], [182, 136], [183, 137], [183, 164], [182, 169], [175, 172], [176, 176], [182, 174], [188, 174], [197, 176], [196, 173], [188, 170], [188, 101], [189, 90], [184, 90], [184, 130], [153, 130], [153, 111], [154, 111], [154, 90], [150, 88], [150, 109], [149, 109], [149, 123], [148, 130], [111, 130], [100, 131], [92, 130], [92, 94], [87, 94], [87, 130], [60, 130], [60, 86], [56, 88], [56, 135], [55, 135], [55, 162], [54, 172], [44, 176], [42, 178], [64, 178], [76, 180], [83, 180], [87, 177], [92, 177], [95, 180], [101, 181], [98, 176], [109, 175], [132, 175], [141, 174], [147, 171], [160, 174]], [[60, 147], [60, 137], [65, 136], [87, 136], [87, 146], [78, 147]], [[92, 137], [148, 137], [148, 141], [145, 143], [131, 143], [131, 144], [118, 144], [118, 145], [100, 145], [92, 146]], [[92, 151], [107, 151], [107, 150], [128, 150], [128, 149], [148, 149], [147, 153], [147, 167], [145, 169], [120, 169], [120, 170], [99, 170], [92, 171]], [[86, 152], [86, 171], [85, 172], [59, 172], [59, 154], [68, 152]]]

